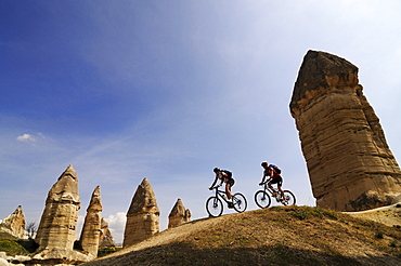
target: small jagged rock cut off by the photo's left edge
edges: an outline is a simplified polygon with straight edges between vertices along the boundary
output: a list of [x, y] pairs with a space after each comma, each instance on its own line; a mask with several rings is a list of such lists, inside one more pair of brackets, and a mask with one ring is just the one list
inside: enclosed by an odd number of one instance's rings
[[15, 238], [23, 238], [25, 235], [25, 214], [23, 208], [18, 205], [15, 211], [0, 220], [0, 231], [7, 232]]

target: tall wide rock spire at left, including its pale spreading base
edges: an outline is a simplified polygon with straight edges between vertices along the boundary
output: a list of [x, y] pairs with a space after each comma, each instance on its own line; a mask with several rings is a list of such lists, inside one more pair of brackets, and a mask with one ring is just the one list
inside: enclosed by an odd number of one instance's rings
[[30, 264], [79, 264], [94, 258], [73, 250], [79, 208], [78, 177], [69, 165], [49, 190], [35, 238], [39, 248]]

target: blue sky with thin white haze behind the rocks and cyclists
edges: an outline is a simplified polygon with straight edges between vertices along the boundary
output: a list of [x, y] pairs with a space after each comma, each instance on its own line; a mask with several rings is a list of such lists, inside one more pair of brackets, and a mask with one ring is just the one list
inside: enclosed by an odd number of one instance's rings
[[[101, 186], [121, 242], [144, 177], [160, 229], [178, 198], [205, 217], [212, 169], [257, 207], [260, 162], [313, 205], [288, 105], [308, 50], [360, 68], [364, 94], [401, 156], [398, 1], [0, 1], [0, 218], [39, 223], [73, 164], [80, 223]], [[230, 213], [230, 212], [227, 212]], [[79, 234], [79, 232], [78, 232]]]

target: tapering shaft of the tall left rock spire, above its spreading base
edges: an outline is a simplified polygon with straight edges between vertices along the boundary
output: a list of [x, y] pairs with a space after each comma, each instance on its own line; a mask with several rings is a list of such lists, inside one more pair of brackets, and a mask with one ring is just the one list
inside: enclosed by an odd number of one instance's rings
[[39, 244], [38, 251], [52, 248], [73, 250], [79, 208], [78, 177], [69, 165], [48, 194], [35, 239]]

